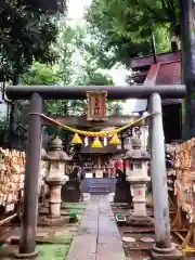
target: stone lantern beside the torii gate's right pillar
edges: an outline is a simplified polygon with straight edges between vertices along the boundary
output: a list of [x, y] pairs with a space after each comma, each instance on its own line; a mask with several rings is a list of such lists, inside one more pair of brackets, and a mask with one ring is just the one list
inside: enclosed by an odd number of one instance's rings
[[146, 184], [151, 180], [147, 176], [147, 164], [150, 155], [142, 150], [142, 142], [138, 138], [131, 139], [132, 150], [128, 151], [123, 159], [132, 164], [132, 169], [127, 171], [126, 180], [132, 187], [133, 195], [133, 213], [130, 216], [132, 224], [152, 224], [146, 211]]

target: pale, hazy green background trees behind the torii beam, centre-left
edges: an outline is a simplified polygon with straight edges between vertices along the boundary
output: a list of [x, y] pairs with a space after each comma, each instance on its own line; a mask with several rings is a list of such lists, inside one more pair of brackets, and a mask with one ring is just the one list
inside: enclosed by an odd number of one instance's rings
[[[34, 62], [28, 72], [22, 75], [20, 82], [27, 86], [110, 86], [112, 78], [104, 74], [88, 50], [82, 28], [72, 28], [66, 25], [65, 20], [57, 21], [58, 36], [56, 43], [53, 46], [57, 53], [57, 62], [53, 65]], [[74, 55], [79, 54], [83, 60], [79, 69], [74, 63]], [[27, 115], [29, 110], [28, 102], [20, 102], [20, 121], [27, 123]], [[108, 103], [108, 114], [120, 114], [120, 103]], [[87, 112], [84, 101], [46, 101], [44, 113], [52, 117], [63, 117], [72, 115], [83, 115]], [[44, 132], [49, 134], [61, 134], [67, 140], [69, 133], [62, 129], [50, 126], [44, 128]]]

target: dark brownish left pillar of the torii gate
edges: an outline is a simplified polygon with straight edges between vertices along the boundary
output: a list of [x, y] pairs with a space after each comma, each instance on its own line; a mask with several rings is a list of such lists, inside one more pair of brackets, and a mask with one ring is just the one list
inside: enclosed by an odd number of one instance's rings
[[24, 202], [21, 224], [21, 240], [18, 259], [35, 258], [38, 252], [36, 248], [36, 227], [38, 214], [38, 182], [39, 164], [42, 139], [42, 119], [39, 114], [42, 113], [42, 98], [32, 93], [30, 96], [30, 113], [28, 123], [28, 138], [26, 150], [26, 167], [24, 183]]

